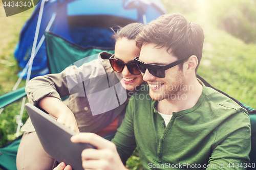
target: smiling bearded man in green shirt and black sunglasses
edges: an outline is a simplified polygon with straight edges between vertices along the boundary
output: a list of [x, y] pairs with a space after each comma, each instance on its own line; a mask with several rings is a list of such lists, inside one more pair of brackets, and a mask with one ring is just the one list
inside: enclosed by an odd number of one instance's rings
[[196, 78], [203, 41], [202, 28], [181, 14], [163, 15], [141, 30], [135, 61], [153, 100], [143, 86], [133, 94], [114, 144], [94, 134], [73, 136], [97, 148], [82, 152], [84, 169], [126, 169], [136, 147], [144, 169], [246, 169], [249, 115]]

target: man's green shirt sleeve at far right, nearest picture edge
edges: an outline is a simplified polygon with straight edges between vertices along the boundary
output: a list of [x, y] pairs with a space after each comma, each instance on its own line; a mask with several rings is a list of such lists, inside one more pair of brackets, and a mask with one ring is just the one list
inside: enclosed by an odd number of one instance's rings
[[206, 169], [246, 169], [251, 149], [249, 115], [240, 111], [216, 130], [211, 157]]

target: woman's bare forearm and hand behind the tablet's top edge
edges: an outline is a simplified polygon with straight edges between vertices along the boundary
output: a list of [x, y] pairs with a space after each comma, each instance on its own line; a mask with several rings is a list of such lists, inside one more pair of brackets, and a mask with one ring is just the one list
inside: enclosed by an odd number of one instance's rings
[[38, 102], [40, 108], [57, 118], [57, 121], [79, 133], [76, 119], [71, 110], [59, 99], [45, 97]]

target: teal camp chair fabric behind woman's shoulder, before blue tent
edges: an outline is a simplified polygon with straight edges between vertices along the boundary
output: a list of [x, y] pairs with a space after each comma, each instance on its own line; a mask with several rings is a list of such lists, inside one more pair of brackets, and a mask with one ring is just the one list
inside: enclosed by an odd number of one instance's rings
[[45, 36], [48, 66], [52, 74], [61, 72], [73, 63], [80, 66], [97, 59], [97, 54], [102, 51], [114, 53], [114, 48], [84, 48], [51, 32], [46, 32]]

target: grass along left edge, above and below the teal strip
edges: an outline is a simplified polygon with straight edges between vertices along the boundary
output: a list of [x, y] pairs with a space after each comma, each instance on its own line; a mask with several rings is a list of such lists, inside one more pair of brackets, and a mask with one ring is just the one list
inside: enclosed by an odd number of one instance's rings
[[[17, 72], [21, 69], [18, 67], [13, 57], [15, 45], [19, 38], [19, 33], [30, 17], [32, 10], [19, 13], [14, 16], [6, 17], [4, 7], [0, 1], [0, 94], [4, 94], [12, 90], [14, 84], [18, 80]], [[22, 81], [19, 87], [25, 86]], [[7, 142], [15, 139], [17, 124], [15, 116], [19, 114], [21, 102], [16, 102], [7, 106], [0, 115], [0, 147]], [[23, 120], [28, 115], [24, 112]]]

